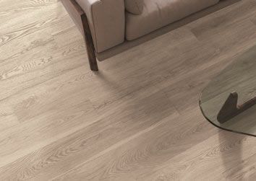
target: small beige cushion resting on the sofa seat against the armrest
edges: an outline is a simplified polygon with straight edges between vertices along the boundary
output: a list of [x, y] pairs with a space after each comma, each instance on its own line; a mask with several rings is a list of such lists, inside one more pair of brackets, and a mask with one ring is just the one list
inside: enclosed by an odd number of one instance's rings
[[132, 14], [142, 14], [143, 0], [124, 0], [125, 9]]

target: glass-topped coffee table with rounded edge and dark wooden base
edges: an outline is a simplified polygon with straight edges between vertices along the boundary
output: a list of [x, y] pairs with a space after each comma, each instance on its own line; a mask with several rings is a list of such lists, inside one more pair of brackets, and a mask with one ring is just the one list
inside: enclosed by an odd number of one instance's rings
[[256, 45], [223, 69], [200, 97], [200, 108], [218, 128], [256, 136]]

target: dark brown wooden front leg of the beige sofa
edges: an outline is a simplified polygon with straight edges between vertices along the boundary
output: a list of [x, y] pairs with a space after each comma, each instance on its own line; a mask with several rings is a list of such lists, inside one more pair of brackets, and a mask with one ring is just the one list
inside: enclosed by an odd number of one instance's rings
[[90, 69], [92, 71], [98, 71], [98, 64], [97, 64], [97, 58], [95, 56], [95, 48], [93, 45], [93, 37], [90, 32], [90, 27], [88, 25], [88, 20], [85, 14], [82, 14], [82, 27], [84, 30], [84, 40], [85, 40], [85, 46], [88, 54], [88, 59], [90, 63]]

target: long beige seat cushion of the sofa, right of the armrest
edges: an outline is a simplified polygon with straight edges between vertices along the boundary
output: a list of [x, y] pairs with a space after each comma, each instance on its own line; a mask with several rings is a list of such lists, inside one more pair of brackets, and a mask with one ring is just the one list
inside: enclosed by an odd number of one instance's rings
[[208, 6], [217, 4], [219, 0], [145, 0], [142, 14], [127, 12], [126, 39], [137, 37], [157, 30], [160, 27], [187, 17]]

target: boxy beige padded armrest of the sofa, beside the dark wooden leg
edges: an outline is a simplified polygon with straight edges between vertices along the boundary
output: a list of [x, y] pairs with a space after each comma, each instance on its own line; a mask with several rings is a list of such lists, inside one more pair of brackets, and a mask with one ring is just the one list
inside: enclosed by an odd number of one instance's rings
[[97, 53], [124, 42], [124, 0], [76, 0], [84, 10]]

